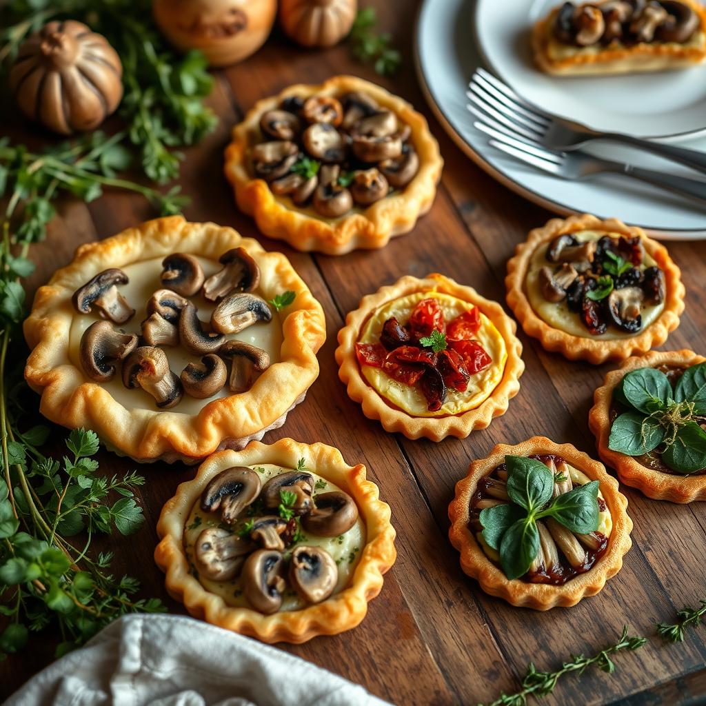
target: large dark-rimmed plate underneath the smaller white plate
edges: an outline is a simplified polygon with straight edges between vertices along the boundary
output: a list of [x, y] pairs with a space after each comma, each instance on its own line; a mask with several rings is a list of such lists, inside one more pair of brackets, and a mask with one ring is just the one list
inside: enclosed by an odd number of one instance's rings
[[[495, 1], [503, 8], [510, 4], [510, 0], [489, 1]], [[473, 116], [466, 109], [466, 86], [474, 68], [483, 65], [474, 31], [475, 10], [474, 0], [425, 0], [417, 23], [416, 47], [419, 80], [431, 109], [469, 157], [513, 191], [556, 213], [618, 217], [664, 239], [706, 239], [706, 206], [703, 203], [615, 174], [595, 177], [591, 181], [564, 181], [491, 148], [486, 136], [473, 127]], [[484, 43], [487, 41], [485, 38]], [[541, 75], [534, 77], [541, 78]], [[702, 79], [706, 83], [704, 79], [706, 73]], [[519, 85], [514, 88], [525, 93]], [[672, 118], [676, 119], [677, 115], [670, 114], [669, 120]], [[675, 131], [662, 129], [658, 132]], [[688, 146], [706, 151], [706, 138], [690, 140]], [[629, 148], [604, 145], [600, 152], [640, 167], [685, 173], [657, 157], [636, 155]]]

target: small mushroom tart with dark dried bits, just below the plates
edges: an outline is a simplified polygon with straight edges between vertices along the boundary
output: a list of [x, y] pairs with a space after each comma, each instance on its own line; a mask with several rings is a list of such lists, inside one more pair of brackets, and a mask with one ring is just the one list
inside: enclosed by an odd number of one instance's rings
[[664, 343], [684, 310], [679, 268], [640, 228], [592, 215], [534, 229], [508, 262], [525, 333], [571, 360], [623, 360]]

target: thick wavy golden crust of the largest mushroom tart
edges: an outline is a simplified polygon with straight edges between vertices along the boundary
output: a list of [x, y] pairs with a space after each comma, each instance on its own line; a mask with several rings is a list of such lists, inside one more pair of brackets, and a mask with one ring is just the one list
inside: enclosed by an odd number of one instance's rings
[[[126, 409], [90, 380], [69, 357], [71, 324], [80, 315], [71, 296], [106, 268], [149, 261], [181, 251], [215, 261], [229, 249], [244, 247], [261, 270], [260, 291], [267, 299], [286, 290], [294, 304], [273, 322], [282, 326], [280, 361], [270, 366], [250, 390], [203, 400], [198, 414], [174, 410]], [[160, 288], [159, 280], [155, 289]], [[303, 400], [318, 376], [316, 352], [325, 341], [325, 318], [301, 277], [282, 253], [268, 253], [257, 241], [213, 223], [189, 223], [180, 216], [128, 228], [114, 237], [80, 246], [65, 268], [40, 287], [24, 324], [31, 349], [25, 378], [42, 395], [40, 411], [69, 428], [85, 426], [116, 450], [138, 461], [198, 462], [217, 448], [242, 446], [281, 426], [287, 412]], [[178, 374], [178, 372], [177, 372]]]

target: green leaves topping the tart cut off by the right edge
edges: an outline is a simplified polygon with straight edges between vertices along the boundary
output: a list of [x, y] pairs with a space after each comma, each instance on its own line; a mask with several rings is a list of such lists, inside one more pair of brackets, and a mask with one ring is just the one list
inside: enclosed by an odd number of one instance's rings
[[628, 407], [611, 426], [608, 447], [628, 456], [657, 450], [664, 465], [690, 474], [706, 468], [706, 364], [684, 371], [672, 388], [654, 368], [633, 370], [613, 393]]

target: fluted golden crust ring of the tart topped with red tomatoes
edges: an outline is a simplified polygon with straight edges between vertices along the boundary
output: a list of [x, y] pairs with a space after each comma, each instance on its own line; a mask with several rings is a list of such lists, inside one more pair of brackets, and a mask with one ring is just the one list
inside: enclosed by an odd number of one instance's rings
[[[449, 294], [474, 304], [489, 319], [505, 343], [507, 358], [501, 380], [489, 397], [475, 409], [442, 417], [414, 417], [404, 409], [391, 405], [361, 374], [355, 345], [366, 321], [384, 304], [418, 292]], [[375, 294], [363, 297], [358, 309], [348, 314], [345, 327], [338, 332], [339, 345], [335, 354], [339, 365], [338, 376], [347, 385], [348, 396], [361, 403], [365, 416], [380, 421], [385, 431], [399, 431], [411, 439], [425, 436], [431, 441], [441, 441], [447, 436], [466, 438], [474, 429], [485, 429], [493, 417], [505, 414], [510, 399], [520, 390], [519, 378], [525, 370], [525, 363], [521, 357], [522, 344], [515, 336], [516, 330], [515, 322], [500, 304], [481, 297], [472, 287], [465, 287], [450, 277], [436, 273], [423, 280], [407, 275], [394, 285], [381, 287]]]

